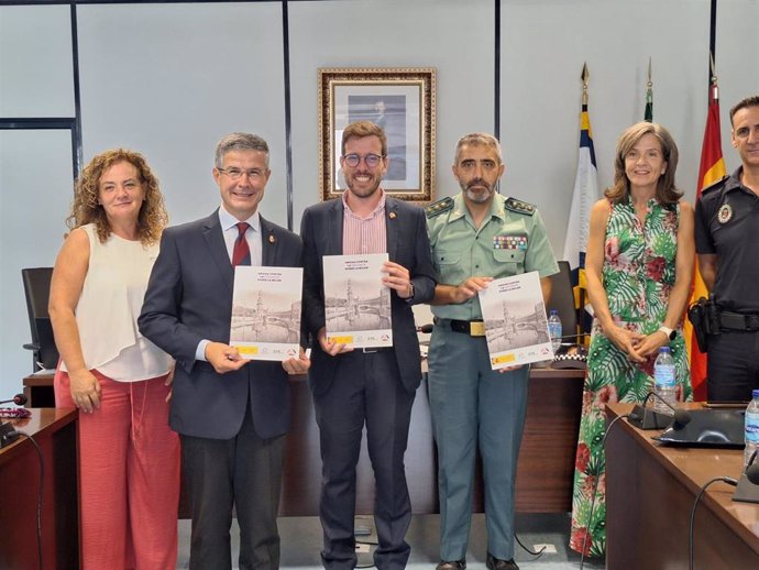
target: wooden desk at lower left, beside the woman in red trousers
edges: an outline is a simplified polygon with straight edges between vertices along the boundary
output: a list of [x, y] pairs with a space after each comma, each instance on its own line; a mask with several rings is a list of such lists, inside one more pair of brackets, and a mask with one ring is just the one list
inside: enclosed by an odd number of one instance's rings
[[[73, 409], [33, 409], [11, 421], [31, 435], [45, 462], [42, 511], [46, 569], [79, 567], [76, 418]], [[36, 504], [40, 461], [23, 436], [0, 449], [0, 568], [37, 568]]]

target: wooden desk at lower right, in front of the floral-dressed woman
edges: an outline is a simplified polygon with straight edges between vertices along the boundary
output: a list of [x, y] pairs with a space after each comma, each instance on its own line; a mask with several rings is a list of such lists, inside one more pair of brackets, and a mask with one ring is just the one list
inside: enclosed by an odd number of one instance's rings
[[[697, 407], [698, 404], [691, 404]], [[608, 420], [631, 404], [608, 406]], [[606, 568], [688, 569], [689, 522], [701, 486], [740, 476], [743, 450], [660, 445], [626, 419], [606, 438]], [[694, 568], [759, 568], [759, 505], [732, 502], [735, 487], [714, 483], [695, 516]]]

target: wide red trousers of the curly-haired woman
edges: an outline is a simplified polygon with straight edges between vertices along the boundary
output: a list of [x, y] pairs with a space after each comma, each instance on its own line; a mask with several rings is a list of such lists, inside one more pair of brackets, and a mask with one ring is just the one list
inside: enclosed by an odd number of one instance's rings
[[[116, 382], [97, 371], [100, 407], [79, 414], [82, 570], [175, 570], [179, 438], [164, 377]], [[55, 405], [75, 407], [66, 372]]]

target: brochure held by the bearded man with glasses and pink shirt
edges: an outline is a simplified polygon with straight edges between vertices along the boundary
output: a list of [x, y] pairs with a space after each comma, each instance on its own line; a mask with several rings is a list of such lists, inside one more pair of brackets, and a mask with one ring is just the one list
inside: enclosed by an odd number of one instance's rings
[[393, 346], [391, 289], [382, 284], [387, 253], [324, 255], [327, 339], [355, 349]]

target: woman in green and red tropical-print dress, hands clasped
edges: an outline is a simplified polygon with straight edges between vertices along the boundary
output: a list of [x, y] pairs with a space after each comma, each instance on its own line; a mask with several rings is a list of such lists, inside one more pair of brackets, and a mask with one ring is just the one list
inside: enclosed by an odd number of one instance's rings
[[[652, 390], [659, 347], [668, 343], [678, 398], [691, 398], [680, 329], [693, 275], [693, 207], [674, 186], [676, 166], [678, 147], [664, 128], [630, 127], [617, 142], [614, 186], [591, 210], [585, 274], [595, 318], [570, 538], [570, 547], [585, 556], [602, 557], [606, 550], [605, 405], [642, 402]], [[672, 341], [669, 329], [678, 330]]]

